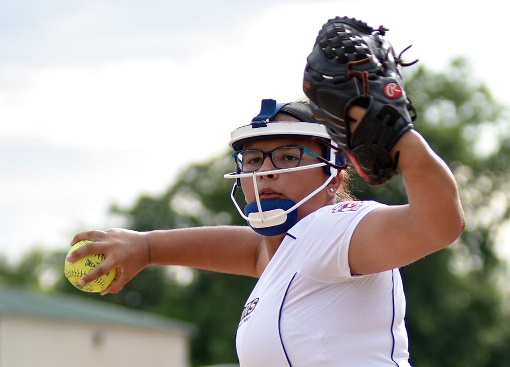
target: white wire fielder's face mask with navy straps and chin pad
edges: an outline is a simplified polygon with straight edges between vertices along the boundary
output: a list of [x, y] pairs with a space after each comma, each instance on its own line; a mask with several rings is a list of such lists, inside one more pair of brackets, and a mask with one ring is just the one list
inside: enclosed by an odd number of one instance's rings
[[[274, 121], [272, 118], [276, 114], [290, 115], [299, 121]], [[342, 156], [340, 155], [337, 144], [331, 140], [326, 127], [316, 122], [312, 117], [312, 111], [308, 102], [290, 102], [277, 104], [273, 99], [263, 99], [259, 115], [251, 120], [249, 125], [242, 126], [234, 130], [231, 134], [231, 140], [228, 143], [235, 153], [239, 152], [243, 145], [254, 140], [267, 138], [284, 137], [310, 137], [317, 139], [324, 144], [325, 156], [317, 156], [320, 163], [302, 165], [290, 168], [278, 168], [272, 171], [242, 173], [239, 166], [236, 165], [236, 172], [224, 175], [225, 178], [234, 178], [236, 182], [232, 189], [231, 197], [239, 214], [247, 220], [250, 227], [257, 233], [265, 236], [275, 236], [287, 232], [297, 221], [297, 208], [305, 201], [322, 190], [337, 175], [338, 170], [345, 167]], [[274, 173], [285, 173], [298, 170], [309, 170], [318, 166], [324, 166], [328, 178], [322, 185], [317, 187], [301, 201], [295, 203], [288, 199], [269, 199], [260, 200], [257, 184], [257, 176], [269, 175]], [[251, 177], [255, 190], [256, 202], [248, 203], [244, 211], [241, 210], [235, 192], [240, 187], [241, 177]]]

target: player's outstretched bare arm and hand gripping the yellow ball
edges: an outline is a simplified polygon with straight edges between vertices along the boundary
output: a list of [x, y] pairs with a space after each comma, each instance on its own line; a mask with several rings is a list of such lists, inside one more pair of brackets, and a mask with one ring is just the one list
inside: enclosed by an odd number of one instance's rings
[[115, 280], [101, 295], [119, 292], [148, 265], [182, 265], [258, 277], [267, 256], [262, 236], [242, 226], [85, 231], [75, 235], [71, 244], [85, 239], [93, 242], [74, 250], [67, 260], [72, 262], [89, 253], [105, 255], [105, 260], [80, 280], [85, 285], [116, 268]]

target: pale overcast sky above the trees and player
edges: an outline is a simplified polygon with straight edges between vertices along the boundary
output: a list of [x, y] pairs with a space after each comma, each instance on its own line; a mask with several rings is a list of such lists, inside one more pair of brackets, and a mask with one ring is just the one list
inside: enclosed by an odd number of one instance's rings
[[[483, 4], [484, 7], [480, 7]], [[299, 98], [321, 25], [348, 15], [390, 29], [406, 60], [467, 57], [510, 105], [496, 0], [0, 0], [0, 251], [67, 248], [122, 225], [112, 203], [159, 194], [227, 149], [260, 100]]]

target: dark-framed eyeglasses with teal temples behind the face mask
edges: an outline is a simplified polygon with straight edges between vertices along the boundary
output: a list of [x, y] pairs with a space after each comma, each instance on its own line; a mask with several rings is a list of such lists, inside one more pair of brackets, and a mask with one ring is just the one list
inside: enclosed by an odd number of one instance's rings
[[307, 148], [297, 145], [288, 145], [279, 147], [268, 152], [260, 149], [244, 149], [239, 152], [232, 153], [237, 167], [241, 172], [254, 172], [259, 170], [267, 156], [271, 158], [271, 162], [276, 168], [294, 168], [299, 165], [304, 154], [308, 154], [314, 158], [322, 158], [318, 154], [308, 150]]

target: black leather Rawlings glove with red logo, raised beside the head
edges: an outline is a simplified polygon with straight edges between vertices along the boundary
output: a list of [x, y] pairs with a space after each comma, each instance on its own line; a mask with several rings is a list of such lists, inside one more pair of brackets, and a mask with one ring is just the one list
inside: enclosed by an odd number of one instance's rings
[[[416, 118], [399, 70], [416, 61], [405, 64], [402, 53], [396, 57], [384, 37], [387, 31], [354, 18], [330, 19], [319, 31], [304, 70], [303, 91], [315, 118], [370, 185], [397, 173], [398, 152], [392, 158], [390, 150]], [[352, 105], [367, 109], [353, 133], [347, 115]]]

